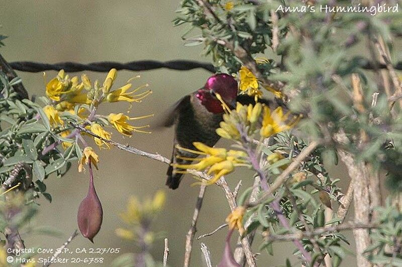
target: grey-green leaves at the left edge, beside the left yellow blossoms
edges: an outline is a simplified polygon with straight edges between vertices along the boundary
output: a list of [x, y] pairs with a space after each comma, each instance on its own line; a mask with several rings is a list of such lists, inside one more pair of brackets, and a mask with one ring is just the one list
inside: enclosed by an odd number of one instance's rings
[[76, 153], [72, 149], [64, 153], [52, 150], [42, 155], [43, 149], [57, 138], [42, 108], [28, 99], [17, 98], [13, 86], [20, 82], [19, 78], [9, 82], [0, 73], [3, 96], [0, 99], [0, 182], [10, 177], [18, 163], [25, 164], [24, 171], [17, 174], [10, 186], [21, 182], [23, 191], [31, 191], [32, 198], [42, 195], [51, 201], [45, 179], [52, 173], [62, 177], [70, 168], [70, 161], [77, 159]]

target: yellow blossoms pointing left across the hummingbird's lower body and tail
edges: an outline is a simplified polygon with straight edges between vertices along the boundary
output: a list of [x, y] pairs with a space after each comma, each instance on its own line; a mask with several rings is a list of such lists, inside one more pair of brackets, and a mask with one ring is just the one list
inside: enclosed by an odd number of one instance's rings
[[[216, 183], [223, 175], [231, 173], [237, 166], [249, 166], [247, 164], [247, 153], [239, 150], [226, 150], [225, 148], [209, 147], [201, 142], [194, 142], [193, 145], [198, 151], [178, 147], [178, 149], [188, 151], [194, 154], [205, 155], [203, 158], [193, 159], [184, 158], [186, 160], [197, 160], [199, 162], [192, 164], [173, 164], [174, 167], [180, 169], [204, 170], [209, 168], [207, 174], [214, 172], [214, 177], [208, 181], [202, 182], [205, 185]], [[176, 171], [179, 172], [179, 171]], [[185, 173], [186, 171], [182, 171]]]

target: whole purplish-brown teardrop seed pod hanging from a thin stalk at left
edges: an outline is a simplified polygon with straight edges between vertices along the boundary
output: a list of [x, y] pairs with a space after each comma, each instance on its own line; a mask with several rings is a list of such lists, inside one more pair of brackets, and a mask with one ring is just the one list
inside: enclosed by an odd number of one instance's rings
[[88, 194], [79, 204], [77, 220], [81, 234], [93, 243], [93, 237], [100, 230], [100, 225], [102, 225], [103, 210], [93, 186], [91, 167], [89, 167], [89, 175]]

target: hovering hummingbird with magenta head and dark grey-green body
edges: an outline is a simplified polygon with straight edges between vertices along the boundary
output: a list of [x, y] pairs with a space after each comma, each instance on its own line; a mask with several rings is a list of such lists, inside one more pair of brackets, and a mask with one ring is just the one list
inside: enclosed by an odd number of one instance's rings
[[[225, 112], [216, 94], [219, 94], [231, 109], [236, 107], [236, 102], [243, 105], [255, 104], [254, 97], [245, 94], [238, 95], [237, 88], [237, 81], [231, 75], [215, 74], [208, 78], [202, 88], [181, 98], [167, 112], [167, 117], [162, 125], [164, 127], [174, 125], [172, 157], [166, 172], [166, 185], [169, 188], [176, 189], [183, 176], [183, 173], [175, 172], [176, 168], [172, 164], [189, 164], [191, 161], [183, 158], [198, 156], [178, 149], [177, 145], [196, 150], [193, 142], [202, 142], [212, 147], [220, 139], [216, 129], [219, 128]], [[270, 101], [266, 99], [261, 99], [260, 102], [270, 104]]]

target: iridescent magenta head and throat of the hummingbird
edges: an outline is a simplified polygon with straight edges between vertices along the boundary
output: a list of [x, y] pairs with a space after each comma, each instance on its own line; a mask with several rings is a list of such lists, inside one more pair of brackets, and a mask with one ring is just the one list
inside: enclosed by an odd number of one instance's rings
[[197, 91], [196, 97], [199, 99], [209, 112], [222, 113], [222, 103], [216, 98], [219, 94], [225, 103], [230, 107], [235, 107], [237, 96], [237, 82], [229, 74], [216, 74], [208, 78], [203, 88]]

